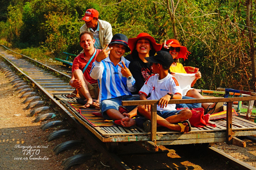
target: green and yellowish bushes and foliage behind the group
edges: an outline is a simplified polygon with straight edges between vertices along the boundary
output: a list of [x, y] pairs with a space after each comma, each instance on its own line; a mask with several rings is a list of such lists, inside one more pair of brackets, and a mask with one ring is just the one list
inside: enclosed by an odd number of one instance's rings
[[[27, 55], [28, 51], [52, 57], [63, 55], [62, 51], [78, 54], [81, 18], [89, 8], [111, 23], [113, 34], [134, 38], [147, 32], [158, 43], [174, 38], [165, 0], [3, 0], [2, 7], [0, 42], [23, 48]], [[254, 40], [255, 7], [250, 16]], [[199, 67], [202, 78], [195, 88], [253, 89], [246, 17], [242, 1], [179, 1], [175, 11], [178, 40], [191, 52], [188, 60], [180, 62]]]

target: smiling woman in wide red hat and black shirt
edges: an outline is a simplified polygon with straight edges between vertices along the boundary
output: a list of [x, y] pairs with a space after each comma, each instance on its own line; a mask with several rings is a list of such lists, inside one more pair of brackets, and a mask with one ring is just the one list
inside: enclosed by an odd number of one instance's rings
[[144, 85], [144, 82], [153, 74], [152, 63], [146, 61], [145, 57], [154, 55], [161, 49], [161, 45], [149, 34], [142, 32], [136, 38], [128, 39], [131, 49], [131, 63], [129, 70], [136, 80], [137, 91]]

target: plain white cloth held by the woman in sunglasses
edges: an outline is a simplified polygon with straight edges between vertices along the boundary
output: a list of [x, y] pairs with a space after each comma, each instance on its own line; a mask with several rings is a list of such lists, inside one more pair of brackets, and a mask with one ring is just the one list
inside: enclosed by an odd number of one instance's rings
[[186, 73], [175, 73], [175, 78], [177, 79], [179, 86], [182, 89], [182, 96], [186, 96], [188, 91], [191, 88], [191, 83], [195, 80], [195, 74], [186, 74]]

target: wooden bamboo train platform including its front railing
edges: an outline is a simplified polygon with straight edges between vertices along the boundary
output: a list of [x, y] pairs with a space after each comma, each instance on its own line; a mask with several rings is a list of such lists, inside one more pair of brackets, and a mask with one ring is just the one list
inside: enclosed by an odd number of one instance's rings
[[[227, 119], [211, 120], [210, 123], [216, 124], [216, 127], [205, 126], [203, 128], [192, 127], [189, 133], [170, 131], [167, 128], [156, 128], [156, 104], [157, 100], [137, 100], [123, 101], [123, 105], [152, 105], [151, 132], [147, 133], [144, 129], [137, 127], [131, 130], [118, 126], [97, 126], [92, 125], [85, 117], [75, 110], [70, 103], [75, 102], [75, 98], [67, 98], [64, 94], [54, 94], [56, 100], [60, 103], [91, 131], [97, 138], [104, 143], [119, 142], [140, 142], [142, 146], [152, 150], [158, 150], [159, 145], [177, 145], [177, 144], [196, 144], [196, 143], [234, 143], [236, 136], [256, 135], [256, 123], [243, 119], [239, 116], [232, 117], [233, 101], [253, 101], [256, 96], [247, 97], [210, 97], [205, 99], [183, 99], [170, 100], [169, 104], [175, 103], [214, 103], [227, 102]], [[239, 113], [238, 113], [239, 114]], [[234, 140], [233, 140], [234, 139]], [[233, 141], [233, 142], [232, 142]]]

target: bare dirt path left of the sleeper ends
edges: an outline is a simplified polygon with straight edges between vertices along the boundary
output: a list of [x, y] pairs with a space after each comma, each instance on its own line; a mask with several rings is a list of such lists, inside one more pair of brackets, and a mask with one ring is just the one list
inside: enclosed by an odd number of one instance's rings
[[28, 116], [28, 104], [22, 104], [25, 98], [19, 98], [22, 94], [2, 72], [0, 89], [0, 169], [45, 169], [45, 165], [59, 169], [61, 162], [52, 151], [54, 146], [45, 139], [48, 132], [40, 129], [42, 123], [35, 123], [35, 117]]

